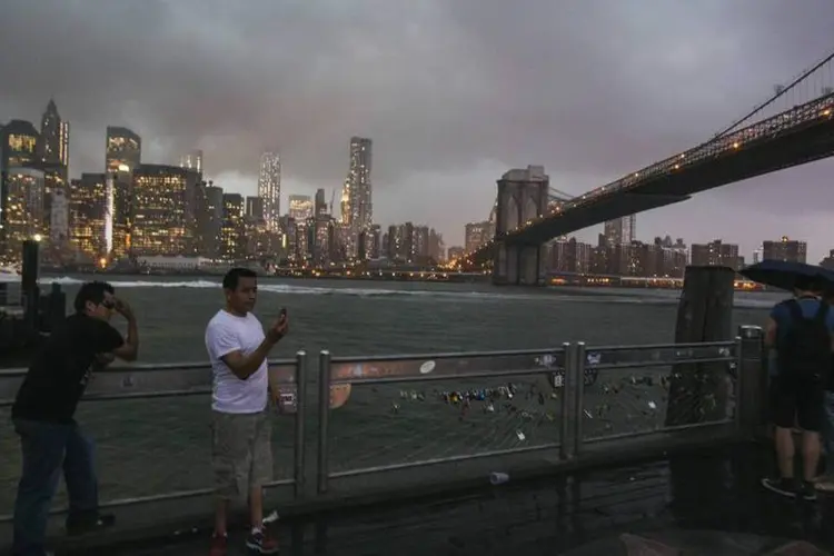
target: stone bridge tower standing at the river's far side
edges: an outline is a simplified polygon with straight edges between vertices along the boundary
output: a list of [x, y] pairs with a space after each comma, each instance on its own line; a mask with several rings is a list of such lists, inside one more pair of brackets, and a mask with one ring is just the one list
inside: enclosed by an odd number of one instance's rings
[[493, 284], [539, 284], [544, 275], [544, 244], [510, 244], [502, 238], [547, 211], [549, 182], [543, 166], [509, 170], [498, 180]]

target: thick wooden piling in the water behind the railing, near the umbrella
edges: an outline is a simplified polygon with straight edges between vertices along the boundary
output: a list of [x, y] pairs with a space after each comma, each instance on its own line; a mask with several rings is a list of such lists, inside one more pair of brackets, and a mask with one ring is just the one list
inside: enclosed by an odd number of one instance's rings
[[[733, 339], [733, 282], [727, 267], [686, 267], [677, 306], [675, 344]], [[724, 418], [727, 411], [727, 364], [681, 364], [672, 369], [666, 426]]]

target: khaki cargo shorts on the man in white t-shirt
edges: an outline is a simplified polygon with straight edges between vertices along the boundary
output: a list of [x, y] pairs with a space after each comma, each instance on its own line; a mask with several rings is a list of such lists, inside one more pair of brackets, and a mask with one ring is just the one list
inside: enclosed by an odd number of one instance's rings
[[212, 411], [211, 467], [218, 497], [246, 499], [252, 488], [272, 480], [271, 429], [266, 411]]

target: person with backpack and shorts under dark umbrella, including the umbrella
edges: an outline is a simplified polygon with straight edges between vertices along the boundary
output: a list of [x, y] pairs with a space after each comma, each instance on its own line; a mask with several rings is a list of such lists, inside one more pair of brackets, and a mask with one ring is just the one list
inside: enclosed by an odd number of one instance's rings
[[[776, 351], [771, 411], [780, 476], [766, 477], [762, 485], [783, 496], [814, 500], [820, 434], [827, 421], [825, 389], [834, 361], [834, 311], [821, 297], [828, 275], [820, 267], [783, 261], [763, 261], [742, 274], [762, 284], [794, 290], [792, 299], [776, 304], [771, 310], [765, 331], [765, 347]], [[794, 474], [794, 424], [802, 429], [801, 481]]]

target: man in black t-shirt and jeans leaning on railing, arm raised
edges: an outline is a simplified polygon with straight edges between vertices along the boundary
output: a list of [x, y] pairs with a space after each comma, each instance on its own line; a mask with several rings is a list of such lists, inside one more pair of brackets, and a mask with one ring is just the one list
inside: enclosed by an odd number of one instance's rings
[[[135, 360], [139, 336], [132, 310], [113, 296], [109, 284], [81, 286], [75, 309], [75, 315], [52, 330], [32, 359], [11, 409], [23, 454], [14, 500], [16, 556], [46, 554], [49, 506], [61, 470], [70, 499], [68, 533], [87, 533], [113, 524], [112, 516], [98, 512], [92, 445], [73, 417], [90, 373], [103, 368], [113, 357]], [[128, 321], [127, 339], [109, 324], [115, 311]]]

